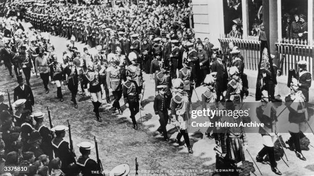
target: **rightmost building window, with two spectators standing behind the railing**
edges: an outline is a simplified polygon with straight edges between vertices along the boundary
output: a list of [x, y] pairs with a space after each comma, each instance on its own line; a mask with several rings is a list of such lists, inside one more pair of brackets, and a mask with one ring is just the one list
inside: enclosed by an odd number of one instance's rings
[[289, 40], [308, 41], [307, 0], [282, 0], [282, 37]]

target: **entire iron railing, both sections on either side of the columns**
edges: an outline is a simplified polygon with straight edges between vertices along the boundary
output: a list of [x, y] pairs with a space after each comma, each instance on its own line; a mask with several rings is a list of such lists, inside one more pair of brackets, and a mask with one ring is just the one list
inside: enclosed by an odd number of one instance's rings
[[[219, 38], [221, 48], [226, 51], [229, 42], [233, 42], [234, 46], [238, 46], [244, 57], [245, 69], [258, 70], [260, 60], [260, 41], [258, 37], [227, 38], [221, 36]], [[283, 38], [276, 43], [280, 59], [283, 59], [283, 75], [288, 75], [289, 69], [295, 69], [296, 63], [300, 60], [307, 62], [307, 70], [314, 75], [314, 46], [308, 45], [307, 41], [288, 40]], [[314, 76], [312, 76], [314, 80]]]

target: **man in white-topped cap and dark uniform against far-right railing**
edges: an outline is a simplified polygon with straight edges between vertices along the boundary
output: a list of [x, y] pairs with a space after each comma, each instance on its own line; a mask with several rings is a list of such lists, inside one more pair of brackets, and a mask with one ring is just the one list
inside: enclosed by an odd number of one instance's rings
[[307, 62], [305, 60], [301, 60], [298, 62], [299, 65], [299, 90], [302, 91], [302, 94], [305, 97], [305, 102], [308, 102], [308, 89], [311, 87], [311, 73], [306, 70]]

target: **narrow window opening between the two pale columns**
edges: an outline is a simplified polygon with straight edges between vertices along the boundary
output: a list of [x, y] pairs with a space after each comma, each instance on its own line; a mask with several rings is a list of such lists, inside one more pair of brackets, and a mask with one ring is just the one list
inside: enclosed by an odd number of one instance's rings
[[263, 22], [263, 1], [248, 0], [248, 35], [259, 36], [260, 25]]

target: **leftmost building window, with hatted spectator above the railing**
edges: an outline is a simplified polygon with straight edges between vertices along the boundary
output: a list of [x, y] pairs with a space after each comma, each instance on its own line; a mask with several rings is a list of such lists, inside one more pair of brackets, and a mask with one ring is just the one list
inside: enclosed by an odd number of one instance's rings
[[223, 0], [224, 27], [227, 37], [240, 38], [242, 29], [242, 3], [241, 0]]

